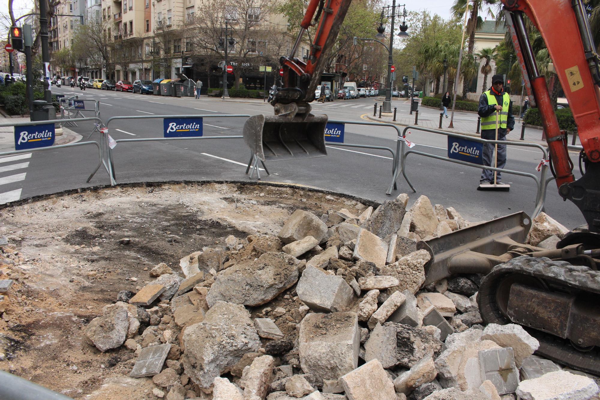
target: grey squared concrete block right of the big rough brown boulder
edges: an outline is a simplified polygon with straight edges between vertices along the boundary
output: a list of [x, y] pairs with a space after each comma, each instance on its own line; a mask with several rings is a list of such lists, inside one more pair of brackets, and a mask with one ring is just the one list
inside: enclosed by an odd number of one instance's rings
[[296, 292], [313, 311], [343, 311], [354, 298], [354, 291], [341, 276], [332, 276], [315, 267], [302, 272]]

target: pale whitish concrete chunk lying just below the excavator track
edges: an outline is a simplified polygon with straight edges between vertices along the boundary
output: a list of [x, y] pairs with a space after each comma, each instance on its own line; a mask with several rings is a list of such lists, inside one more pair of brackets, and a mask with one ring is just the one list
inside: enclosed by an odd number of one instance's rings
[[512, 347], [517, 367], [520, 367], [523, 360], [531, 356], [539, 347], [538, 340], [517, 324], [488, 324], [481, 340], [493, 341], [500, 347]]

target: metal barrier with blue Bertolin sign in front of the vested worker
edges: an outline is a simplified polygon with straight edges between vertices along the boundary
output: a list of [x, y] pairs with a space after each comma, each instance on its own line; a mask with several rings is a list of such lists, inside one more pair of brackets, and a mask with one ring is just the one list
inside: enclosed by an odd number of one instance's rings
[[478, 169], [489, 169], [490, 171], [499, 171], [499, 172], [504, 172], [506, 174], [520, 175], [522, 177], [532, 178], [535, 181], [536, 188], [537, 188], [536, 198], [535, 198], [536, 205], [535, 205], [535, 209], [533, 210], [533, 213], [532, 213], [532, 218], [535, 218], [544, 208], [544, 202], [546, 199], [546, 187], [548, 184], [547, 179], [546, 179], [546, 175], [548, 173], [548, 166], [545, 163], [542, 163], [541, 177], [538, 178], [535, 174], [530, 174], [529, 172], [513, 171], [511, 169], [494, 168], [492, 166], [473, 164], [473, 163], [469, 163], [469, 162], [465, 162], [465, 161], [461, 161], [461, 160], [450, 159], [448, 157], [437, 156], [436, 154], [424, 153], [422, 151], [417, 151], [417, 150], [405, 151], [404, 144], [406, 142], [406, 131], [409, 129], [420, 130], [423, 132], [437, 133], [439, 135], [452, 136], [453, 138], [462, 138], [462, 139], [466, 139], [469, 141], [480, 142], [480, 143], [484, 143], [484, 144], [487, 143], [487, 144], [504, 144], [504, 145], [517, 146], [517, 147], [535, 147], [535, 148], [538, 148], [542, 152], [542, 154], [544, 155], [544, 160], [547, 160], [548, 159], [548, 151], [542, 145], [539, 145], [536, 143], [529, 143], [529, 142], [492, 141], [492, 140], [486, 140], [486, 139], [481, 139], [481, 138], [475, 138], [473, 136], [460, 135], [459, 133], [445, 132], [443, 130], [428, 129], [428, 128], [422, 128], [422, 127], [418, 127], [418, 126], [407, 126], [404, 128], [401, 137], [398, 137], [398, 147], [399, 148], [397, 148], [396, 152], [400, 153], [400, 155], [401, 155], [400, 171], [402, 171], [402, 175], [404, 176], [406, 183], [409, 184], [410, 189], [412, 189], [413, 192], [416, 192], [416, 189], [413, 186], [413, 184], [410, 182], [409, 178], [406, 176], [406, 157], [409, 154], [419, 154], [421, 156], [431, 157], [431, 158], [437, 159], [437, 160], [449, 161], [449, 162], [460, 164], [460, 165], [472, 166], [472, 167], [478, 168]]

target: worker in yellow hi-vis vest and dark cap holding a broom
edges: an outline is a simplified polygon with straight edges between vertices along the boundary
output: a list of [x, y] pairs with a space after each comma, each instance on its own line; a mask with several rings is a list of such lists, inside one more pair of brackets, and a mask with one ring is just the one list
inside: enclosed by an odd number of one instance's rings
[[[496, 111], [500, 112], [496, 116]], [[506, 140], [506, 135], [515, 127], [515, 117], [512, 115], [511, 98], [504, 91], [504, 77], [494, 75], [491, 78], [491, 88], [483, 92], [479, 97], [479, 117], [481, 117], [481, 138], [488, 140], [496, 139], [496, 118], [498, 121], [498, 140]], [[485, 166], [492, 166], [494, 156], [494, 145], [484, 143], [483, 161]], [[498, 145], [497, 168], [504, 168], [506, 165], [506, 145]], [[494, 171], [484, 169], [481, 172], [479, 184], [489, 184], [494, 181]], [[500, 171], [496, 178], [496, 183], [500, 184]]]

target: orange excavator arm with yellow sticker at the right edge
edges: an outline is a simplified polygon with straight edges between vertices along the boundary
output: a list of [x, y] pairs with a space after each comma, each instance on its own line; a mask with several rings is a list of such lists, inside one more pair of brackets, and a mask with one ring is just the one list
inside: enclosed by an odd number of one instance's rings
[[[580, 208], [590, 231], [600, 232], [600, 67], [581, 0], [502, 0], [506, 23], [526, 82], [530, 102], [542, 124], [560, 196]], [[559, 129], [546, 81], [527, 37], [526, 15], [544, 38], [565, 91], [583, 146], [586, 172], [572, 173], [565, 132]]]

